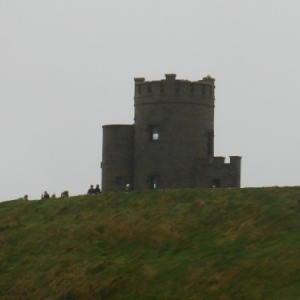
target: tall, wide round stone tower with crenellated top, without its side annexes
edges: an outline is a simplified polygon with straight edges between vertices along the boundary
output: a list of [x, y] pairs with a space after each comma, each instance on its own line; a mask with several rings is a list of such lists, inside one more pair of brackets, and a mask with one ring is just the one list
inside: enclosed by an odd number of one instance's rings
[[195, 159], [214, 156], [214, 79], [135, 78], [134, 188], [193, 188]]

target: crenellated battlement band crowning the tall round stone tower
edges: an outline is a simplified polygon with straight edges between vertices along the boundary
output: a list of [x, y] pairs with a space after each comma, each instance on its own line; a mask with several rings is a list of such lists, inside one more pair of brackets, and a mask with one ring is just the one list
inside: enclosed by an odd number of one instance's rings
[[176, 79], [176, 74], [165, 74], [166, 79], [145, 81], [143, 77], [134, 78], [135, 104], [156, 101], [207, 102], [214, 98], [215, 79], [206, 76], [202, 80], [189, 81]]

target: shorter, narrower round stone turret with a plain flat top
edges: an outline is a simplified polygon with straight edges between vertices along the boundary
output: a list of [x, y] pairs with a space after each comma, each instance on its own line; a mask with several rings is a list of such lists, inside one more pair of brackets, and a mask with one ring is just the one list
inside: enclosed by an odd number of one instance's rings
[[133, 125], [104, 125], [102, 190], [125, 191], [133, 183]]

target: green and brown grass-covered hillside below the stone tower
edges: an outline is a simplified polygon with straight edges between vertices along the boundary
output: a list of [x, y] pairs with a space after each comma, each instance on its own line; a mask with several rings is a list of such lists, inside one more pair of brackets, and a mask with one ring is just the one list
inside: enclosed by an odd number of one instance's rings
[[0, 299], [300, 299], [300, 188], [0, 203]]

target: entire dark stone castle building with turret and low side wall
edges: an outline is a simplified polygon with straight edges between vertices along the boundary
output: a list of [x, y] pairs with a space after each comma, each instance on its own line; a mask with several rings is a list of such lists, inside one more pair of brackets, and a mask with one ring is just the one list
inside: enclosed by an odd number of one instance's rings
[[241, 157], [214, 157], [214, 82], [135, 78], [134, 124], [103, 126], [103, 191], [240, 187]]

